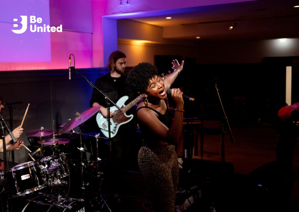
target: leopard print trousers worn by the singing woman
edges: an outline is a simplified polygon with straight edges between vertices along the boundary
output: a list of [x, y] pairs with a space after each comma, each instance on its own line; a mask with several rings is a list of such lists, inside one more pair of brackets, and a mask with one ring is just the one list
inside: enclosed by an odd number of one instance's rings
[[175, 146], [143, 145], [138, 153], [138, 165], [155, 211], [173, 212], [179, 183]]

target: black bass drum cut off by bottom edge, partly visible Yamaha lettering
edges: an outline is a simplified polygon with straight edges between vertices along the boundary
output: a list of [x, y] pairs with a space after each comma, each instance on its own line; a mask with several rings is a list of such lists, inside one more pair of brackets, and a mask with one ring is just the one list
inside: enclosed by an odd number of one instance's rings
[[48, 197], [44, 195], [39, 195], [30, 199], [21, 212], [88, 212], [91, 211], [91, 207], [86, 207], [85, 202], [78, 201], [77, 199], [63, 200], [57, 206], [55, 205], [55, 197]]

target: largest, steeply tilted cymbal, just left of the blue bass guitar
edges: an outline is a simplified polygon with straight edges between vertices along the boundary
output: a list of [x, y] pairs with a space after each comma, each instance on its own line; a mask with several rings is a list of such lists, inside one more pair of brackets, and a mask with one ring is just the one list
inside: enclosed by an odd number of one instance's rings
[[93, 116], [94, 114], [96, 114], [101, 106], [95, 106], [92, 108], [87, 109], [86, 111], [82, 112], [82, 113], [77, 113], [76, 117], [74, 117], [71, 121], [69, 121], [68, 123], [66, 123], [62, 129], [59, 131], [60, 134], [65, 133], [70, 131], [71, 129], [75, 128], [76, 126], [79, 126], [80, 124], [82, 124], [84, 121], [86, 121], [87, 119], [89, 119], [91, 116]]

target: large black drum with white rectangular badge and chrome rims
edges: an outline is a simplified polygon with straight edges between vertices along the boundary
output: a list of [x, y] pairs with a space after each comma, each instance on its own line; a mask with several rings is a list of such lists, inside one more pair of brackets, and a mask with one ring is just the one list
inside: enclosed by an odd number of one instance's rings
[[[1, 173], [1, 178], [4, 173]], [[8, 197], [22, 196], [47, 186], [46, 177], [37, 162], [18, 164], [7, 172]]]

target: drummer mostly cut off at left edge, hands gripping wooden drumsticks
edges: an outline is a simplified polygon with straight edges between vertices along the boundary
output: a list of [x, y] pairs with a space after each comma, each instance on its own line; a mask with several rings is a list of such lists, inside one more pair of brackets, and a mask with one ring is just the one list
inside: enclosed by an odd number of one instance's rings
[[[3, 100], [3, 97], [0, 94], [0, 112], [4, 108], [4, 105], [2, 105], [2, 100]], [[21, 144], [24, 144], [24, 141], [21, 141], [21, 140], [18, 139], [23, 133], [23, 128], [20, 128], [20, 126], [18, 126], [16, 129], [14, 129], [12, 131], [12, 133], [13, 133], [14, 137], [17, 139], [17, 142], [14, 143], [14, 144], [9, 144], [10, 141], [12, 140], [12, 138], [10, 137], [10, 135], [6, 135], [5, 136], [5, 143], [6, 143], [7, 152], [12, 151], [12, 150], [19, 150], [22, 147]], [[3, 141], [2, 141], [2, 139], [0, 139], [0, 152], [3, 152]], [[13, 163], [13, 162], [8, 161], [8, 167], [9, 168], [14, 167], [15, 165], [17, 165], [17, 163]], [[2, 170], [2, 171], [4, 170], [4, 161], [1, 160], [1, 159], [0, 159], [0, 170]]]

